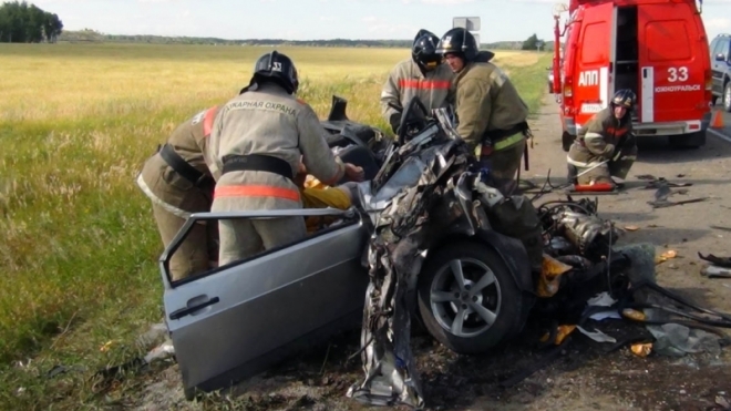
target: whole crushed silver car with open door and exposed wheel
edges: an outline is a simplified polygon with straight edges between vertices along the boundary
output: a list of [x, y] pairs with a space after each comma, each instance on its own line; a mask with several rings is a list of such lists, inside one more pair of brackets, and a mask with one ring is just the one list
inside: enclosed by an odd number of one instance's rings
[[[344, 107], [342, 115], [332, 112], [331, 119], [347, 119]], [[410, 348], [415, 321], [450, 350], [474, 355], [511, 341], [529, 316], [580, 328], [590, 315], [587, 301], [603, 292], [625, 307], [647, 302], [632, 287], [655, 286], [651, 246], [616, 247], [618, 232], [599, 218], [597, 201], [534, 206], [524, 195], [502, 195], [452, 121], [451, 113], [428, 113], [414, 99], [397, 142], [368, 127], [349, 133], [358, 129], [349, 120], [333, 123], [331, 142], [368, 148], [378, 165], [357, 185], [350, 209], [189, 218], [159, 259], [188, 399], [196, 389], [229, 387], [360, 327], [364, 377], [346, 395], [422, 409], [426, 399]], [[360, 140], [364, 135], [371, 140]], [[195, 222], [280, 216], [334, 223], [301, 242], [171, 281], [169, 256]]]

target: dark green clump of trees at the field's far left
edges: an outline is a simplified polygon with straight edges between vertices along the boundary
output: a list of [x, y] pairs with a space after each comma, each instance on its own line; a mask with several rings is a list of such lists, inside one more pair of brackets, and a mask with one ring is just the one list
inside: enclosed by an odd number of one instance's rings
[[55, 42], [63, 30], [61, 19], [25, 1], [6, 2], [0, 6], [0, 42], [40, 43]]

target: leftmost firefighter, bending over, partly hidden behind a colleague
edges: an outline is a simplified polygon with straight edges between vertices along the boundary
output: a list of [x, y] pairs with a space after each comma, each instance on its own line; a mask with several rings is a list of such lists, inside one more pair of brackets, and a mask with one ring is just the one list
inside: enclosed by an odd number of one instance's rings
[[[203, 153], [217, 113], [218, 107], [214, 106], [178, 125], [137, 176], [137, 185], [152, 201], [165, 247], [192, 213], [210, 210], [215, 181]], [[215, 222], [197, 223], [171, 257], [172, 280], [217, 266], [217, 238]]]

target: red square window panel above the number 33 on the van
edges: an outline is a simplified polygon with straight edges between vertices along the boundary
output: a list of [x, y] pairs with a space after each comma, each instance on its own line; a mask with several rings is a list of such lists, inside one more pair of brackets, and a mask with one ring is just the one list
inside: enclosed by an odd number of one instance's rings
[[693, 58], [684, 20], [650, 21], [645, 41], [650, 61], [683, 61]]

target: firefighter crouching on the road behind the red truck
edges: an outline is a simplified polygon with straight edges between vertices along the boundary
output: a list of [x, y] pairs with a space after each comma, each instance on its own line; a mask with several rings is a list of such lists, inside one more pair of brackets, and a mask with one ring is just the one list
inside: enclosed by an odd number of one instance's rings
[[629, 89], [615, 93], [609, 106], [596, 113], [581, 127], [566, 160], [569, 182], [579, 185], [609, 184], [624, 179], [637, 158], [632, 134], [632, 109], [637, 95]]

